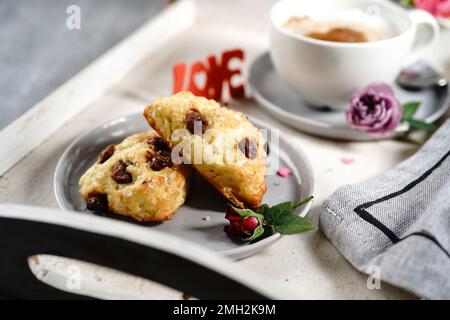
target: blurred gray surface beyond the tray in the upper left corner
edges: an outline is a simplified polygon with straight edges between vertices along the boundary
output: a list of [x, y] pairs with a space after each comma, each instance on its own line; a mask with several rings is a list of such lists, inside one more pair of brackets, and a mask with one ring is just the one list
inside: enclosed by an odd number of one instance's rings
[[[0, 0], [0, 129], [157, 14], [164, 3]], [[80, 30], [66, 27], [70, 5], [81, 9]]]

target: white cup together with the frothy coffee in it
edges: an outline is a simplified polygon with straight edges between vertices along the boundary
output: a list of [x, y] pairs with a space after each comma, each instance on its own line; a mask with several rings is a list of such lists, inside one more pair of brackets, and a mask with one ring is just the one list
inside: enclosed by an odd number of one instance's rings
[[333, 109], [370, 83], [392, 83], [439, 36], [432, 15], [388, 0], [282, 0], [271, 22], [280, 78], [311, 106]]

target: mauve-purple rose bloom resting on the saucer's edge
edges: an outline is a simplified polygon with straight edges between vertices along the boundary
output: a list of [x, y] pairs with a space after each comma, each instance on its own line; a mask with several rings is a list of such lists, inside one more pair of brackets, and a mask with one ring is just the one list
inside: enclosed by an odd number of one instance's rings
[[353, 94], [345, 114], [352, 128], [372, 136], [388, 137], [394, 135], [403, 108], [389, 85], [374, 83]]

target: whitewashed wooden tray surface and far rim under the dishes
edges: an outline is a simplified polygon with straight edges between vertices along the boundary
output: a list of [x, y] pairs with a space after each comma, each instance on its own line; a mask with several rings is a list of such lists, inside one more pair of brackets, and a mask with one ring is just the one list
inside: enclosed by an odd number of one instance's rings
[[[177, 62], [192, 63], [210, 53], [243, 48], [248, 67], [268, 48], [267, 13], [272, 3], [181, 0], [106, 52], [0, 131], [0, 203], [58, 208], [53, 194], [54, 171], [72, 141], [108, 120], [142, 112], [142, 107], [157, 96], [171, 94], [172, 66]], [[450, 33], [428, 59], [439, 70], [448, 65], [448, 41]], [[317, 186], [310, 215], [313, 222], [317, 222], [318, 205], [338, 186], [378, 175], [417, 149], [414, 144], [383, 141], [376, 143], [374, 154], [372, 144], [336, 143], [291, 130], [267, 116], [251, 99], [236, 101], [233, 108], [280, 128], [290, 142], [307, 152]], [[343, 156], [354, 157], [354, 165], [343, 165], [339, 160]], [[182, 297], [178, 291], [140, 277], [92, 264], [47, 256], [39, 256], [38, 262], [32, 266], [33, 272], [54, 286], [64, 285], [70, 267], [76, 264], [83, 274], [83, 291], [95, 297]], [[382, 290], [368, 290], [367, 278], [317, 230], [283, 237], [258, 255], [234, 264], [274, 279], [304, 298], [411, 297], [387, 284]]]

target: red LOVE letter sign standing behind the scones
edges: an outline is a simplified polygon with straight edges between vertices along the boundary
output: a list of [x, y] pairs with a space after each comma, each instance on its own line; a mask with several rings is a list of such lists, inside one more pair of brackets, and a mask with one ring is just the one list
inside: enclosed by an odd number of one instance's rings
[[[177, 63], [173, 67], [173, 93], [182, 90], [191, 91], [197, 96], [203, 96], [216, 101], [222, 100], [223, 87], [228, 87], [229, 96], [233, 99], [245, 95], [244, 85], [233, 85], [231, 79], [241, 75], [240, 69], [231, 69], [232, 59], [244, 60], [244, 51], [235, 49], [222, 53], [220, 61], [214, 55], [209, 55], [207, 61], [196, 61], [190, 66], [189, 75], [186, 63]], [[204, 85], [199, 86], [197, 76], [203, 75]]]

